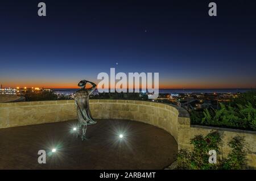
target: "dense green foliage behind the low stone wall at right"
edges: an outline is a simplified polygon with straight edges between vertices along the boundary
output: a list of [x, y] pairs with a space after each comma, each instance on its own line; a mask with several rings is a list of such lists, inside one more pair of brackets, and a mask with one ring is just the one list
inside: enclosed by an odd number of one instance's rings
[[220, 103], [218, 110], [192, 111], [191, 123], [256, 131], [256, 91], [242, 93], [229, 104]]

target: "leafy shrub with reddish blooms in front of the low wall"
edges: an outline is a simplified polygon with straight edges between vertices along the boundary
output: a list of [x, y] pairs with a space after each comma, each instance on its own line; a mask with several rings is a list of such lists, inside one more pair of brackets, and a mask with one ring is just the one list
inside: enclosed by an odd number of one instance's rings
[[195, 136], [191, 139], [193, 150], [180, 150], [177, 154], [179, 167], [177, 169], [192, 170], [216, 170], [216, 169], [243, 169], [245, 168], [245, 155], [243, 149], [243, 138], [236, 136], [229, 142], [232, 151], [227, 158], [217, 158], [217, 164], [209, 163], [209, 150], [216, 150], [217, 156], [220, 154], [221, 137], [218, 132], [211, 132], [207, 136]]

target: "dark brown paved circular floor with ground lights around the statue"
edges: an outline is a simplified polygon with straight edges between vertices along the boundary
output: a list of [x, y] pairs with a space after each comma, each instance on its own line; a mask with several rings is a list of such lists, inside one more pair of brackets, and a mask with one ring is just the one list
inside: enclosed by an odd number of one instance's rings
[[[0, 169], [164, 169], [176, 159], [177, 143], [163, 129], [97, 121], [88, 126], [86, 141], [72, 131], [76, 121], [0, 129]], [[46, 150], [46, 164], [38, 163], [39, 150]]]

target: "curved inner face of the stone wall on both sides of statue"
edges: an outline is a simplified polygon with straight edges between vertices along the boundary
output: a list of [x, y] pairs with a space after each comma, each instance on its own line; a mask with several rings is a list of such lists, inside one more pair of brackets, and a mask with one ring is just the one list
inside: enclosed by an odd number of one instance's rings
[[[177, 141], [177, 124], [189, 121], [182, 108], [138, 100], [90, 100], [90, 110], [96, 119], [128, 119], [162, 128]], [[0, 128], [51, 123], [76, 119], [73, 100], [21, 102], [0, 104]]]

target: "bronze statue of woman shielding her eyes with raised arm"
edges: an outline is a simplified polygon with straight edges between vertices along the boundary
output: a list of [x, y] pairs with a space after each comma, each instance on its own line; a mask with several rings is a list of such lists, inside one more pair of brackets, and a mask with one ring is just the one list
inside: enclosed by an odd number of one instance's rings
[[[92, 87], [86, 89], [86, 83], [90, 83]], [[79, 82], [78, 86], [82, 88], [76, 91], [75, 94], [75, 104], [77, 106], [77, 119], [79, 122], [79, 127], [82, 127], [82, 140], [86, 140], [85, 133], [87, 125], [97, 123], [93, 119], [89, 109], [89, 95], [92, 94], [92, 92], [94, 91], [96, 84], [93, 82], [82, 80]]]

